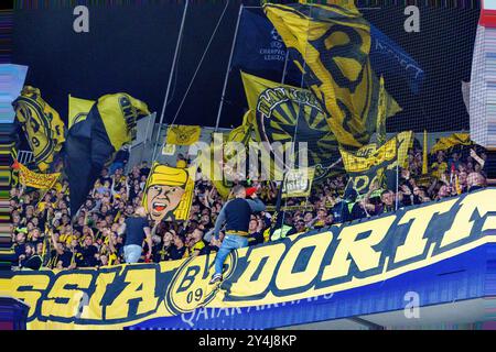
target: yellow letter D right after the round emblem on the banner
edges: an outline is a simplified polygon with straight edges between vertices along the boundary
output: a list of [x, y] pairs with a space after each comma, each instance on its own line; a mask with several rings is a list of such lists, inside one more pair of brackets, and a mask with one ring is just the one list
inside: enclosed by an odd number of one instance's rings
[[[230, 292], [236, 296], [261, 295], [269, 286], [276, 271], [276, 266], [284, 253], [284, 250], [285, 245], [283, 243], [271, 244], [270, 246], [265, 245], [254, 248], [254, 250], [249, 253], [246, 270], [242, 272], [238, 280], [233, 284]], [[261, 268], [260, 275], [256, 279], [251, 280], [255, 272], [263, 258], [267, 258], [267, 262]]]

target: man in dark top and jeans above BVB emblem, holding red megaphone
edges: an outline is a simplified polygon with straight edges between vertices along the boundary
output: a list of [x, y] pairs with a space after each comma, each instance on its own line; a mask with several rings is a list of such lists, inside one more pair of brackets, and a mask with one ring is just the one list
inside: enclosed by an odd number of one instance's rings
[[[220, 227], [224, 222], [226, 222], [226, 235], [215, 257], [215, 274], [212, 276], [211, 285], [223, 279], [224, 261], [230, 251], [248, 246], [248, 227], [251, 213], [266, 209], [266, 205], [258, 199], [256, 190], [256, 188], [245, 189], [240, 185], [235, 186], [233, 188], [235, 198], [224, 205], [217, 217], [214, 235], [216, 239], [219, 238]], [[246, 196], [251, 199], [245, 199]]]

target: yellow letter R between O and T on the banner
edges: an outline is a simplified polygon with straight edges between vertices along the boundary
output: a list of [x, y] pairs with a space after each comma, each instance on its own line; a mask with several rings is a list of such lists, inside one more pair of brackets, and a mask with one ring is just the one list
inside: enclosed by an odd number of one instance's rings
[[[376, 252], [373, 246], [382, 241], [395, 219], [395, 216], [389, 216], [343, 228], [338, 235], [341, 242], [331, 264], [324, 267], [322, 280], [346, 276], [352, 263], [348, 256], [353, 258], [360, 272], [377, 267], [380, 252]], [[370, 232], [367, 238], [356, 240], [359, 234], [367, 232]]]

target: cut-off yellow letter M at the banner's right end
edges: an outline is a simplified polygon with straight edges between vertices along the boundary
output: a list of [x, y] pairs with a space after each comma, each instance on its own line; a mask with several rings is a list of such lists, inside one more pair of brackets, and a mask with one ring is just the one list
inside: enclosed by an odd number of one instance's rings
[[[494, 211], [496, 189], [488, 188], [484, 193], [467, 195], [461, 202], [451, 229], [444, 232], [441, 248], [455, 243], [471, 235], [474, 221], [471, 221], [474, 211], [484, 217], [488, 211]], [[487, 217], [483, 226], [483, 231], [495, 229], [496, 217]]]

